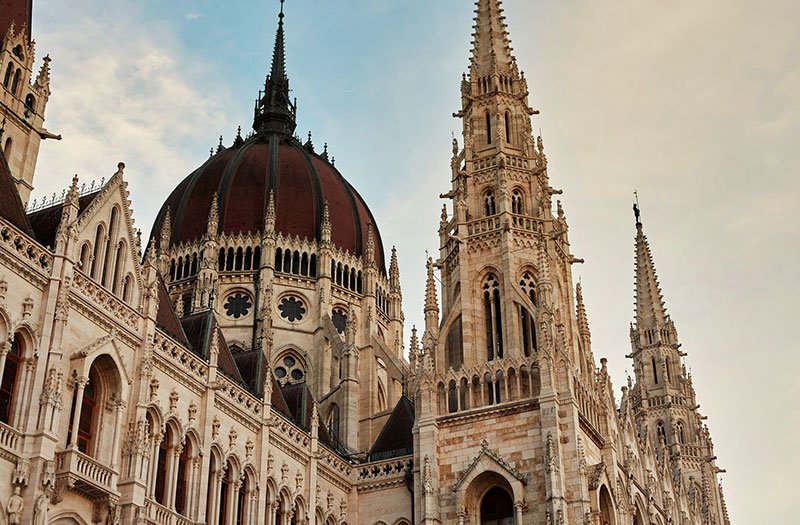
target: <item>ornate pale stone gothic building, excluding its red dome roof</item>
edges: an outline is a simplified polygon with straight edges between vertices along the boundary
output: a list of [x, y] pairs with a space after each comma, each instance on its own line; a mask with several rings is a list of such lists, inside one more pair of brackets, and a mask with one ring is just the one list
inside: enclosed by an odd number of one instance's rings
[[[280, 20], [255, 132], [232, 148], [327, 165], [291, 136]], [[337, 244], [327, 201], [314, 239], [281, 231], [272, 192], [260, 231], [224, 231], [214, 194], [188, 241], [165, 205], [142, 246], [120, 163], [21, 211], [49, 70], [31, 83], [32, 44], [9, 30], [0, 67], [26, 73], [0, 89], [16, 126], [0, 193], [19, 196], [0, 209], [0, 523], [729, 523], [638, 209], [617, 401], [498, 0], [475, 31], [406, 360], [397, 254], [385, 271], [372, 224], [361, 255]]]

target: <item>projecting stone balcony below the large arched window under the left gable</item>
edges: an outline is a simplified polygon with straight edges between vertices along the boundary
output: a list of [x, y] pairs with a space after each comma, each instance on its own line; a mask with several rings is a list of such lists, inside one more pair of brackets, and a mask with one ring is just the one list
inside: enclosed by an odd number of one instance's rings
[[116, 497], [117, 472], [69, 448], [56, 454], [56, 483], [92, 500]]

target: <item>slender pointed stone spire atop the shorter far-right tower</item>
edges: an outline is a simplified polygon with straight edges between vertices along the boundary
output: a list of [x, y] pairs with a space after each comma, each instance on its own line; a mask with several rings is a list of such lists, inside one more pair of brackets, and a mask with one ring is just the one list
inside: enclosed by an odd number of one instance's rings
[[636, 327], [639, 330], [664, 328], [669, 317], [661, 296], [650, 244], [642, 229], [639, 204], [633, 205], [636, 216]]

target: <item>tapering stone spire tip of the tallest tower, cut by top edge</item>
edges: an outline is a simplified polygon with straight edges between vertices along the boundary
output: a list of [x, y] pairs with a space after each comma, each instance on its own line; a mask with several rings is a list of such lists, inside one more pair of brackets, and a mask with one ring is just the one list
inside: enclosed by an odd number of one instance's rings
[[511, 54], [505, 17], [500, 0], [477, 0], [475, 32], [472, 41], [470, 74], [476, 77], [492, 73], [516, 73], [517, 63]]

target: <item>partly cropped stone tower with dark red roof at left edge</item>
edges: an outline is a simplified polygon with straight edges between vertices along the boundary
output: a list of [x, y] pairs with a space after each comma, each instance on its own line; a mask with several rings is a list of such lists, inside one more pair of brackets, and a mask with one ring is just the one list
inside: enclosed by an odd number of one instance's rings
[[42, 139], [61, 138], [44, 129], [50, 98], [50, 57], [34, 77], [32, 0], [0, 0], [0, 145], [22, 202], [33, 190]]

